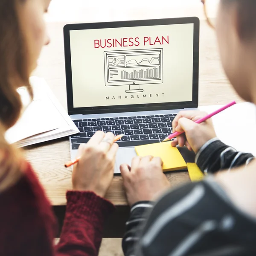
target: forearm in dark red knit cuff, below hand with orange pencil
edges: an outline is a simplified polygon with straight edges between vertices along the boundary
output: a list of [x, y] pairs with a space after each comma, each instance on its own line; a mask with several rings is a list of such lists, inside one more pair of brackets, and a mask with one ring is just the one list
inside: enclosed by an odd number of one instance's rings
[[98, 255], [103, 224], [113, 209], [113, 204], [93, 192], [67, 192], [66, 215], [55, 255]]

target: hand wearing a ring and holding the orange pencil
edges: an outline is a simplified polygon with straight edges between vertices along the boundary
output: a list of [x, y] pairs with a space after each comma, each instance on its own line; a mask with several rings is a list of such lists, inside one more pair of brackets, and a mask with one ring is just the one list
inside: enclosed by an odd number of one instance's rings
[[90, 190], [104, 197], [113, 179], [118, 145], [114, 135], [97, 131], [86, 145], [79, 146], [79, 162], [73, 168], [74, 190]]

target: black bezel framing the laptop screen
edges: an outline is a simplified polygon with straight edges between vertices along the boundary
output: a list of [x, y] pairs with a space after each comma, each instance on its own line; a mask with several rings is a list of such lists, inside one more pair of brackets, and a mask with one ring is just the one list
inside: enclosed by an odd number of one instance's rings
[[[136, 27], [136, 26], [159, 26], [159, 25], [175, 25], [175, 24], [189, 24], [189, 23], [194, 24], [192, 101], [74, 108], [71, 50], [70, 50], [70, 31], [71, 30], [107, 29], [107, 28]], [[65, 25], [64, 26], [64, 52], [65, 52], [68, 114], [74, 115], [74, 114], [119, 113], [119, 112], [157, 111], [157, 110], [168, 110], [168, 109], [171, 110], [171, 109], [182, 109], [182, 108], [197, 108], [198, 107], [198, 76], [199, 76], [199, 27], [200, 27], [200, 21], [198, 17], [167, 18], [167, 19], [154, 19], [154, 20], [129, 20], [129, 21], [113, 21], [113, 22], [99, 22], [99, 23], [75, 23], [75, 24]]]

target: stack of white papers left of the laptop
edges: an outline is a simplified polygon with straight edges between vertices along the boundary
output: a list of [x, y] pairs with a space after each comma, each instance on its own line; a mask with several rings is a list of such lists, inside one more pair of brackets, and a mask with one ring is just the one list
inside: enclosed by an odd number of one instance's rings
[[[18, 147], [79, 133], [78, 128], [60, 105], [44, 79], [31, 77], [34, 99], [23, 112], [18, 122], [6, 131], [6, 140]], [[23, 104], [29, 97], [25, 88], [18, 89]]]

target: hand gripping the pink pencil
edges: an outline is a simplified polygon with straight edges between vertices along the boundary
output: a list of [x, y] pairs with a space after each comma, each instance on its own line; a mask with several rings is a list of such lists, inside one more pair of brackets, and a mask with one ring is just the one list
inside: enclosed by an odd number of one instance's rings
[[195, 123], [196, 120], [206, 116], [203, 111], [180, 111], [172, 122], [173, 131], [183, 132], [171, 145], [179, 145], [193, 150], [195, 153], [210, 139], [215, 138], [215, 130], [213, 128], [212, 119], [207, 119], [201, 124]]

